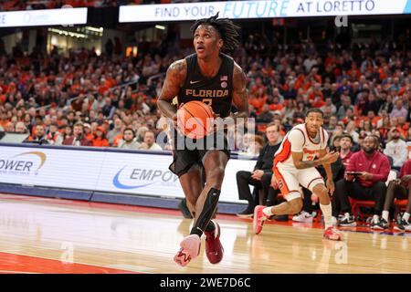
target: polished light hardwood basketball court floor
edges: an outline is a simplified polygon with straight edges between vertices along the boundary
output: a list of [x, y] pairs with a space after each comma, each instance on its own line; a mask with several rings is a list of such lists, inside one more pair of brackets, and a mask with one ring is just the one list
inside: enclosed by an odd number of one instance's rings
[[[314, 224], [266, 224], [217, 215], [225, 257], [201, 253], [174, 264], [191, 220], [175, 210], [0, 194], [2, 273], [410, 273], [410, 234], [342, 231], [321, 238]], [[357, 232], [353, 232], [357, 231]]]

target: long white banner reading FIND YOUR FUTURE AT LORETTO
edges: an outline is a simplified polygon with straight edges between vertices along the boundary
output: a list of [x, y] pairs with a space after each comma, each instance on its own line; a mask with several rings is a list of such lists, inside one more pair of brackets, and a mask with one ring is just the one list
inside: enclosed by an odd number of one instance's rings
[[120, 6], [119, 22], [411, 14], [411, 0], [271, 0]]

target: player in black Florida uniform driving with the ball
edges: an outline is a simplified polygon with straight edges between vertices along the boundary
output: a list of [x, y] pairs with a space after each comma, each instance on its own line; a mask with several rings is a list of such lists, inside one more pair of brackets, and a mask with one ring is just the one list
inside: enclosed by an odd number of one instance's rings
[[[210, 105], [219, 118], [248, 118], [246, 76], [231, 57], [223, 54], [238, 46], [239, 27], [227, 18], [217, 17], [218, 14], [197, 20], [191, 27], [195, 54], [175, 61], [168, 68], [157, 103], [163, 115], [174, 120], [174, 162], [170, 170], [179, 177], [187, 206], [194, 216], [190, 235], [184, 238], [180, 251], [174, 256], [180, 266], [187, 265], [199, 254], [203, 234], [205, 254], [210, 263], [219, 263], [223, 258], [220, 227], [211, 219], [216, 212], [230, 151], [227, 139], [224, 147], [216, 142], [211, 147], [206, 145], [207, 139], [216, 141], [216, 132], [200, 143], [196, 141], [195, 145], [203, 143], [206, 147], [194, 150], [178, 147], [176, 140], [186, 141], [188, 138], [176, 133], [177, 116], [172, 101], [177, 97], [179, 107], [185, 102], [200, 100]], [[235, 114], [230, 111], [232, 104], [237, 108]]]

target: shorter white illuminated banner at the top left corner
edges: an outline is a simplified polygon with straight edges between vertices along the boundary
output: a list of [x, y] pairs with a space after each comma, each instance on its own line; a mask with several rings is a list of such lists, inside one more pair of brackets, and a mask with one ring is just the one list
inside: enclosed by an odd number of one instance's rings
[[0, 12], [0, 27], [71, 26], [87, 23], [87, 8]]

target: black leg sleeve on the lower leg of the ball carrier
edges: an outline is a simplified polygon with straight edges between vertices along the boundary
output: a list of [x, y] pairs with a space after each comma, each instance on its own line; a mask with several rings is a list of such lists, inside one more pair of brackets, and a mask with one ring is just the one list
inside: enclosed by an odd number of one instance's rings
[[210, 191], [208, 191], [207, 197], [205, 198], [203, 211], [198, 216], [195, 225], [191, 229], [190, 235], [198, 235], [200, 237], [201, 235], [203, 235], [205, 227], [210, 222], [211, 217], [216, 211], [216, 206], [218, 203], [218, 198], [220, 197], [220, 193], [221, 191], [215, 188], [211, 188]]

